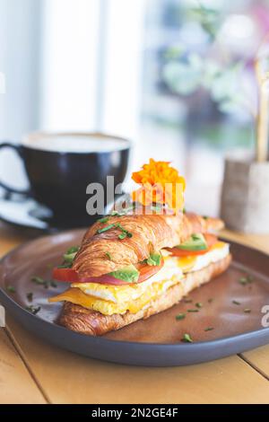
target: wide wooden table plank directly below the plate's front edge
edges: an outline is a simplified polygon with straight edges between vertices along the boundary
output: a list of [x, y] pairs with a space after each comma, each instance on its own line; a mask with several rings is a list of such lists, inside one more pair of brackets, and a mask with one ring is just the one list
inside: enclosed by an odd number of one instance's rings
[[9, 327], [52, 403], [269, 403], [269, 383], [239, 356], [148, 368], [74, 355]]

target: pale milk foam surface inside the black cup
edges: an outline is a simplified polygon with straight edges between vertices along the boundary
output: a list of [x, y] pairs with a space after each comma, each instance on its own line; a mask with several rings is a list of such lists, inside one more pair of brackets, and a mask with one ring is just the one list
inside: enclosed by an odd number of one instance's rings
[[109, 153], [128, 147], [123, 139], [98, 136], [33, 136], [26, 137], [22, 145], [28, 148], [56, 153]]

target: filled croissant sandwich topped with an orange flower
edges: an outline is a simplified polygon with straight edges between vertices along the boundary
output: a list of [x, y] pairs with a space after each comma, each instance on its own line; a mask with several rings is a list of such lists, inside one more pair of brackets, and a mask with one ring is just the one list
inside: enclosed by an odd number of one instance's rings
[[[170, 170], [175, 171], [169, 163], [151, 160], [134, 173], [135, 181], [140, 183], [141, 173], [145, 179], [147, 166], [158, 172], [158, 180], [169, 169], [170, 181]], [[131, 212], [100, 218], [81, 246], [66, 252], [64, 265], [54, 269], [57, 280], [70, 283], [67, 291], [49, 299], [64, 302], [59, 324], [91, 336], [121, 329], [169, 309], [229, 267], [229, 244], [212, 233], [221, 230], [221, 220], [175, 209], [174, 198], [164, 202], [160, 192], [147, 214], [149, 192], [141, 192], [134, 192]], [[134, 213], [137, 208], [142, 214]]]

